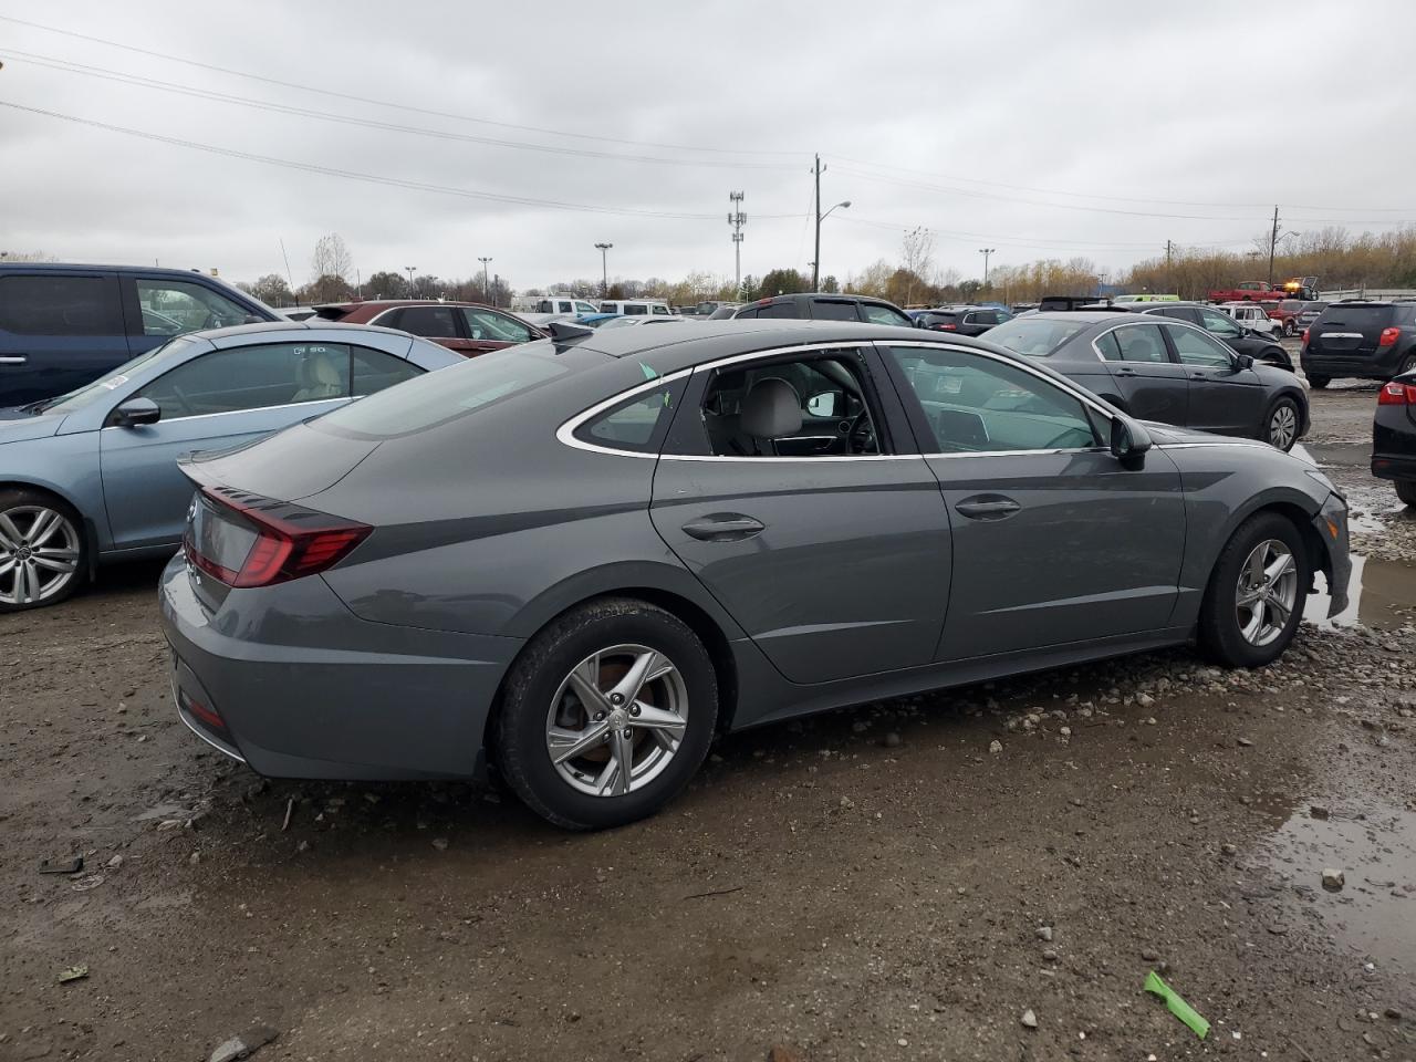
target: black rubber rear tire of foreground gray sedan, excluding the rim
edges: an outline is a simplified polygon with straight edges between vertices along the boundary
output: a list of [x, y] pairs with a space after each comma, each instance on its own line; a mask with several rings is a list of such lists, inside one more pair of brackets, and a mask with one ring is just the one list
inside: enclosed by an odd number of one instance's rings
[[[617, 796], [582, 793], [547, 750], [551, 704], [561, 683], [592, 653], [610, 646], [653, 649], [684, 681], [687, 726], [660, 775]], [[586, 602], [544, 627], [513, 664], [493, 726], [497, 765], [513, 792], [538, 816], [566, 830], [603, 830], [654, 814], [673, 800], [708, 755], [718, 724], [718, 678], [697, 634], [677, 616], [630, 598]]]

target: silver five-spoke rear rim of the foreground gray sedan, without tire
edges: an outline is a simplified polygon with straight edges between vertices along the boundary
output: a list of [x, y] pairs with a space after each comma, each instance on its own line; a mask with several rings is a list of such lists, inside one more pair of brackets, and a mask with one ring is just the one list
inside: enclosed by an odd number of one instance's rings
[[572, 789], [623, 796], [664, 772], [687, 728], [688, 687], [674, 663], [647, 646], [610, 646], [561, 681], [545, 749]]

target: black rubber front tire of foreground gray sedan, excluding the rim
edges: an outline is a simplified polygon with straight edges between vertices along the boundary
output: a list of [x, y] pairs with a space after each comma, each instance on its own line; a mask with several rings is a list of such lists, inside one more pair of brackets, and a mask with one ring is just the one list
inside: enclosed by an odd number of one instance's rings
[[[1281, 633], [1266, 646], [1247, 641], [1239, 629], [1235, 595], [1249, 555], [1264, 541], [1277, 539], [1293, 554], [1297, 592], [1293, 610]], [[1243, 521], [1219, 551], [1205, 599], [1199, 606], [1199, 650], [1223, 667], [1264, 667], [1272, 664], [1293, 641], [1308, 596], [1308, 555], [1303, 535], [1293, 521], [1279, 513], [1256, 513]]]

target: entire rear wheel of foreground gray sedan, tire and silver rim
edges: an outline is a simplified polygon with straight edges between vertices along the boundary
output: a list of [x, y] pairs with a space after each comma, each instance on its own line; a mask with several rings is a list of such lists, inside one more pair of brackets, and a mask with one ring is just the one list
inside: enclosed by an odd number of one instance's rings
[[496, 753], [538, 816], [600, 830], [677, 796], [716, 718], [718, 681], [698, 636], [654, 605], [606, 598], [527, 644], [503, 690]]

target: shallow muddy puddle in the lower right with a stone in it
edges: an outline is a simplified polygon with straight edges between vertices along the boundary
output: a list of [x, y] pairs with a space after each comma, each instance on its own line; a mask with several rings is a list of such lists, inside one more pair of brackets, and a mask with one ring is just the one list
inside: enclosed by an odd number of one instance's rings
[[[1320, 809], [1321, 814], [1321, 809]], [[1416, 976], [1416, 811], [1376, 806], [1365, 813], [1304, 804], [1262, 851], [1323, 929], [1364, 961]], [[1323, 886], [1323, 871], [1342, 872], [1342, 888]]]

